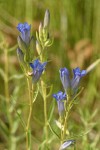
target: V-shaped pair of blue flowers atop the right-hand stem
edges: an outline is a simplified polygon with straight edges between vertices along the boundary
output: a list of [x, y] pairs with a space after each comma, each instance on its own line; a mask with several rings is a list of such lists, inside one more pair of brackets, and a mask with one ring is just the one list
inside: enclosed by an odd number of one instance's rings
[[86, 75], [86, 70], [81, 71], [78, 67], [73, 69], [74, 77], [72, 80], [70, 79], [69, 71], [67, 68], [61, 68], [59, 72], [60, 79], [65, 91], [67, 92], [68, 89], [70, 89], [73, 93], [77, 91], [80, 79]]

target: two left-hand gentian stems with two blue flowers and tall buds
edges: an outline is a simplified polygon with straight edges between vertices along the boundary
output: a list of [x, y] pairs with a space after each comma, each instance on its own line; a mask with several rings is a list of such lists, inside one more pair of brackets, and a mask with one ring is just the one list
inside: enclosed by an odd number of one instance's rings
[[[52, 45], [52, 39], [49, 34], [50, 13], [46, 10], [43, 23], [40, 23], [39, 30], [36, 32], [36, 50], [38, 53], [38, 59], [34, 56], [34, 38], [31, 36], [31, 25], [27, 22], [19, 23], [17, 26], [20, 35], [18, 36], [18, 49], [17, 55], [20, 65], [24, 71], [27, 79], [28, 94], [29, 94], [29, 115], [27, 124], [25, 126], [26, 131], [26, 146], [27, 150], [31, 149], [31, 116], [33, 103], [37, 97], [37, 90], [33, 87], [39, 87], [40, 93], [44, 102], [44, 133], [45, 133], [45, 145], [48, 143], [48, 118], [47, 118], [47, 85], [45, 78], [42, 79], [42, 73], [45, 70], [47, 64], [47, 47]], [[32, 47], [33, 46], [33, 47]], [[34, 60], [34, 61], [33, 61]], [[43, 62], [43, 63], [42, 63]], [[41, 77], [41, 79], [40, 79]], [[37, 84], [39, 82], [39, 84]], [[34, 84], [35, 83], [35, 84]], [[37, 89], [39, 89], [37, 88]], [[34, 91], [33, 91], [34, 89]], [[36, 93], [36, 96], [34, 96]]]

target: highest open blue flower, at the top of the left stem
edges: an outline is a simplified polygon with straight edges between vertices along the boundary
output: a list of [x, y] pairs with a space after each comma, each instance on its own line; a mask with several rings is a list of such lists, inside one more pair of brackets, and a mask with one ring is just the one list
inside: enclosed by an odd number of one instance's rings
[[21, 38], [22, 40], [26, 43], [29, 44], [30, 42], [30, 29], [31, 29], [31, 25], [28, 25], [27, 22], [25, 23], [19, 23], [17, 26], [17, 29], [20, 31], [21, 33]]

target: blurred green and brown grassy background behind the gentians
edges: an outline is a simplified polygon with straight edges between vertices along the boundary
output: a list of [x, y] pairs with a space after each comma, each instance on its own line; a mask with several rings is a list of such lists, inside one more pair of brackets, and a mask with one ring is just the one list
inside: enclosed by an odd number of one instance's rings
[[[16, 55], [19, 22], [28, 22], [32, 27], [32, 34], [38, 30], [46, 9], [50, 10], [50, 34], [54, 38], [52, 47], [48, 49], [51, 60], [46, 69], [47, 83], [53, 84], [52, 93], [62, 89], [59, 78], [60, 67], [69, 69], [80, 67], [86, 69], [91, 63], [100, 58], [100, 1], [99, 0], [0, 0], [0, 118], [7, 122], [5, 116], [5, 83], [3, 73], [8, 64], [9, 96], [16, 107], [22, 110], [23, 118], [27, 118], [27, 107], [21, 103], [27, 102], [27, 88], [22, 70]], [[8, 57], [6, 58], [6, 50]], [[82, 86], [84, 91], [78, 105], [75, 105], [69, 121], [69, 130], [78, 135], [89, 133], [78, 138], [77, 149], [99, 150], [100, 148], [100, 66], [84, 77]], [[3, 71], [4, 72], [3, 72]], [[18, 77], [16, 77], [18, 75]], [[52, 95], [52, 94], [51, 94]], [[33, 134], [39, 138], [42, 133], [40, 123], [43, 119], [43, 103], [36, 101], [33, 111]], [[49, 104], [52, 96], [48, 98]], [[38, 108], [38, 109], [37, 109]], [[40, 108], [40, 109], [39, 109]], [[54, 118], [57, 119], [55, 105]], [[13, 114], [12, 114], [13, 116]], [[38, 119], [37, 119], [38, 118]], [[36, 125], [35, 125], [35, 123]], [[17, 133], [23, 132], [19, 125]], [[17, 149], [24, 149], [19, 142]], [[35, 143], [35, 142], [33, 142]], [[35, 144], [35, 148], [38, 144]], [[0, 126], [0, 149], [6, 148], [6, 140]], [[56, 144], [52, 149], [56, 149]]]

